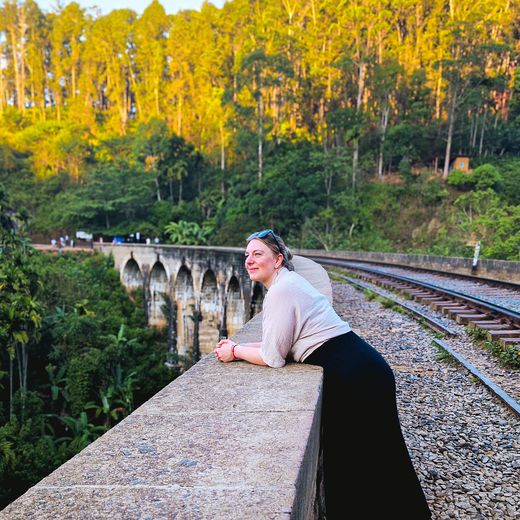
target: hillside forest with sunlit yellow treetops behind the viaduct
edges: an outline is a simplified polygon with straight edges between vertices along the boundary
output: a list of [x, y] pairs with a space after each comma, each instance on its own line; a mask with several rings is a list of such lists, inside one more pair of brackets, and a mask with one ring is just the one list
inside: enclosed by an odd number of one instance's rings
[[[45, 240], [234, 245], [269, 226], [296, 246], [459, 255], [481, 240], [518, 259], [519, 10], [232, 0], [166, 15], [155, 0], [94, 16], [4, 0], [0, 183]], [[500, 179], [447, 183], [457, 155]]]

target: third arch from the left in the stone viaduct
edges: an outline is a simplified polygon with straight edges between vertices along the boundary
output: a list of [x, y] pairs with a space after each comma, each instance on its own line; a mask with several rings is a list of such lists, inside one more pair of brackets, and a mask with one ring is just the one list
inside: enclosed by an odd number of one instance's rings
[[181, 266], [175, 281], [175, 303], [177, 304], [177, 351], [187, 355], [193, 349], [195, 291], [191, 271]]

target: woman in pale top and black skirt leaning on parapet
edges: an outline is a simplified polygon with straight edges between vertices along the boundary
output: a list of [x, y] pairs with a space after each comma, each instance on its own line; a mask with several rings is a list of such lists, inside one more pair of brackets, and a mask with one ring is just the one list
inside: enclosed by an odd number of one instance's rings
[[245, 267], [267, 289], [260, 343], [219, 341], [224, 363], [242, 359], [324, 369], [322, 447], [327, 520], [431, 517], [399, 424], [395, 380], [383, 357], [341, 320], [327, 298], [290, 271], [271, 229], [247, 238]]

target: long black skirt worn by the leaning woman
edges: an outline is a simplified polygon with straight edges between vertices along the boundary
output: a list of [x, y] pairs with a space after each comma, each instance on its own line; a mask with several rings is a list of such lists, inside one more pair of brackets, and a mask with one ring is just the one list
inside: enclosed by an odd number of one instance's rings
[[383, 356], [351, 331], [326, 341], [305, 363], [324, 369], [327, 520], [429, 519], [399, 424], [394, 374]]

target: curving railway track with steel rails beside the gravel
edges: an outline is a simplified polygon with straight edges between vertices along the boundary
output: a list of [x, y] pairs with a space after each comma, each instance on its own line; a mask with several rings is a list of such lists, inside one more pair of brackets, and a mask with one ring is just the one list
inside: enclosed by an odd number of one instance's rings
[[[452, 279], [450, 282], [450, 277], [445, 273], [417, 272], [330, 258], [310, 258], [324, 266], [346, 270], [351, 273], [351, 276], [334, 274], [352, 285], [392, 300], [394, 304], [403, 307], [407, 313], [447, 338], [457, 337], [462, 325], [468, 329], [478, 329], [481, 337], [486, 337], [491, 342], [498, 342], [502, 348], [512, 352], [512, 355], [516, 353], [516, 356], [520, 356], [520, 312], [517, 310], [520, 306], [520, 287], [515, 287], [515, 284], [502, 285], [493, 282], [490, 285], [489, 282], [482, 280], [464, 280], [460, 276], [455, 282]], [[355, 277], [352, 277], [352, 274]], [[403, 298], [393, 298], [392, 294], [396, 293], [407, 300], [428, 306], [434, 312], [422, 312], [417, 305], [409, 304], [403, 301]], [[471, 356], [461, 353], [448, 342], [441, 339], [433, 341], [520, 416], [518, 370], [497, 368], [490, 371], [489, 364], [482, 369], [478, 366], [478, 362], [471, 362], [469, 359]], [[495, 377], [493, 372], [498, 375]]]

